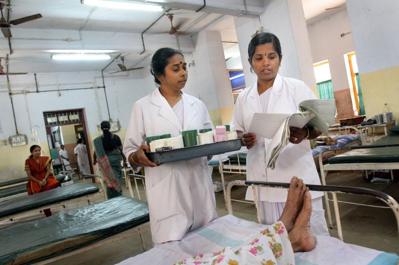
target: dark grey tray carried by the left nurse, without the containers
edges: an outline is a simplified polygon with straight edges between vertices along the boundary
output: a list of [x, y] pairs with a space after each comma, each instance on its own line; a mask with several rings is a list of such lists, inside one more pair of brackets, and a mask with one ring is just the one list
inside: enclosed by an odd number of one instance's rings
[[146, 153], [146, 155], [154, 163], [163, 164], [207, 155], [236, 151], [240, 148], [241, 138], [238, 138], [234, 140], [219, 141], [161, 152], [149, 152]]

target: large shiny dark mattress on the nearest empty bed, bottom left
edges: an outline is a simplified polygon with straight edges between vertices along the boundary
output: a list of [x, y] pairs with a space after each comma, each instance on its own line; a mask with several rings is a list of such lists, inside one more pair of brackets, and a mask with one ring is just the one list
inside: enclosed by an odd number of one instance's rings
[[[1, 229], [0, 264], [15, 262], [20, 256], [32, 259], [30, 257], [32, 252], [50, 246], [48, 251], [42, 253], [43, 257], [36, 261], [48, 259], [121, 233], [149, 220], [150, 214], [146, 202], [119, 196], [98, 204]], [[78, 238], [79, 240], [71, 240]], [[64, 240], [68, 240], [68, 243], [55, 245]], [[55, 248], [57, 250], [54, 250]], [[51, 251], [57, 253], [53, 254]], [[25, 262], [30, 263], [31, 260]]]

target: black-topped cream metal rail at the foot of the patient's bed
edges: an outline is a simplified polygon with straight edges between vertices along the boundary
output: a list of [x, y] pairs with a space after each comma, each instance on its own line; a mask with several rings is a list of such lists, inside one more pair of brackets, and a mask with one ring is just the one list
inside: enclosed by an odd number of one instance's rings
[[[231, 188], [233, 186], [247, 186], [247, 187], [257, 186], [257, 187], [288, 189], [290, 186], [290, 183], [245, 181], [245, 180], [231, 181], [230, 183], [228, 183], [227, 190], [226, 190], [226, 195], [227, 195], [226, 206], [227, 206], [228, 213], [231, 215], [233, 214], [232, 205], [231, 205]], [[374, 190], [374, 189], [368, 189], [368, 188], [343, 187], [343, 186], [306, 185], [306, 187], [309, 187], [309, 190], [312, 190], [312, 191], [323, 191], [324, 193], [330, 192], [333, 194], [334, 210], [335, 210], [335, 217], [336, 217], [337, 229], [338, 229], [338, 238], [341, 241], [344, 241], [344, 238], [342, 235], [342, 227], [341, 227], [340, 213], [339, 213], [339, 209], [338, 209], [337, 193], [372, 196], [374, 198], [380, 199], [381, 201], [385, 202], [388, 205], [388, 207], [386, 207], [386, 208], [391, 208], [394, 211], [396, 221], [397, 221], [398, 233], [399, 233], [399, 204], [394, 198], [392, 198], [390, 195], [388, 195], [384, 192]], [[255, 198], [256, 215], [258, 218], [258, 222], [260, 223], [256, 189], [252, 188], [252, 190], [253, 190], [253, 196]]]

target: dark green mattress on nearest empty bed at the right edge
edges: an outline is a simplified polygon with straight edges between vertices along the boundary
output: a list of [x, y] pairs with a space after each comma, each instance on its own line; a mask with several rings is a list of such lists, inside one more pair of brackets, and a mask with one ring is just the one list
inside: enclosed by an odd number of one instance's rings
[[329, 164], [399, 162], [399, 146], [353, 149], [328, 159]]

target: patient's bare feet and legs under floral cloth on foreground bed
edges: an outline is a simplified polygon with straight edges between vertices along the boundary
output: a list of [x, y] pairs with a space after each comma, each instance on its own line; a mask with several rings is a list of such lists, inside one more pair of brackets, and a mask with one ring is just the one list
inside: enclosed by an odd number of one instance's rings
[[226, 247], [178, 264], [295, 264], [295, 252], [307, 252], [316, 247], [310, 232], [311, 200], [303, 180], [293, 177], [280, 219], [249, 245], [238, 249]]

